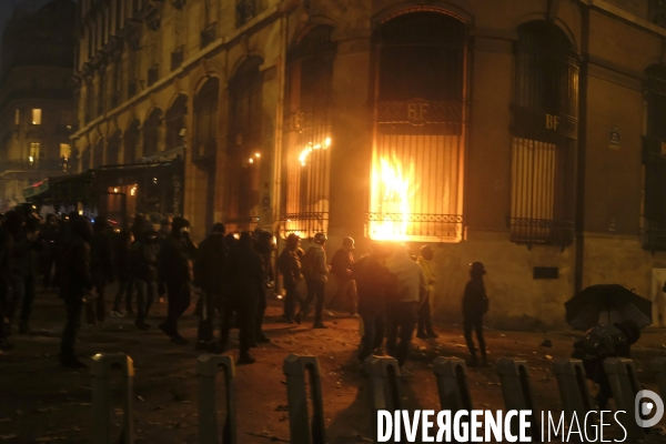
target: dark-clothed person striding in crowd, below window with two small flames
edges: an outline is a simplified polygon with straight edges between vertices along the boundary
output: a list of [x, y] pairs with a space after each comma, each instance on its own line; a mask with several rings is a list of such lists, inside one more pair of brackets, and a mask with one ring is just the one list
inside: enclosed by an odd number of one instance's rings
[[226, 282], [229, 294], [222, 310], [221, 351], [226, 349], [232, 316], [235, 313], [240, 334], [238, 364], [252, 364], [250, 347], [254, 340], [256, 306], [264, 292], [264, 269], [260, 254], [252, 248], [250, 233], [242, 233], [238, 245], [229, 253]]

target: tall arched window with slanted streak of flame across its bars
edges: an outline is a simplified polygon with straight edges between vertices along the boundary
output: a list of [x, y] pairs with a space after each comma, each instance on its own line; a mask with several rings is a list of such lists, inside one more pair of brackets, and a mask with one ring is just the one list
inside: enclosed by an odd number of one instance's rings
[[312, 236], [329, 229], [332, 28], [307, 32], [290, 51], [285, 103], [282, 232]]

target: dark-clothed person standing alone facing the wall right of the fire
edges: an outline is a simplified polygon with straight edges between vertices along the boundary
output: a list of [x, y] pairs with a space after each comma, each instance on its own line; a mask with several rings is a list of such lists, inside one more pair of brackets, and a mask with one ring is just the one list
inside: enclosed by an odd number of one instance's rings
[[481, 262], [470, 264], [470, 282], [465, 286], [463, 295], [463, 331], [467, 349], [470, 350], [470, 366], [478, 366], [476, 359], [476, 349], [472, 340], [472, 332], [476, 332], [478, 350], [481, 351], [482, 365], [487, 366], [485, 340], [483, 337], [483, 315], [488, 311], [488, 299], [485, 294], [483, 276], [486, 274], [485, 268]]

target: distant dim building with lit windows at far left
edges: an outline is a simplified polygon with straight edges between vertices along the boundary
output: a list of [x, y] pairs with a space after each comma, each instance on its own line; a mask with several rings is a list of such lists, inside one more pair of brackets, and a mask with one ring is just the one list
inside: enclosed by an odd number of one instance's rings
[[17, 9], [2, 34], [0, 211], [23, 202], [23, 189], [71, 169], [77, 4], [52, 0]]

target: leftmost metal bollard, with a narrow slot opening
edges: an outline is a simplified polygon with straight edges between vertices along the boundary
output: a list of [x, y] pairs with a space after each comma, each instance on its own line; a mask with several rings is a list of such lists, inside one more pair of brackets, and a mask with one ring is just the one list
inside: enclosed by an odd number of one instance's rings
[[111, 371], [120, 369], [123, 373], [124, 415], [121, 442], [134, 443], [134, 424], [132, 417], [134, 363], [124, 353], [101, 354], [92, 357], [90, 374], [92, 375], [92, 444], [111, 444], [111, 391], [109, 379]]

